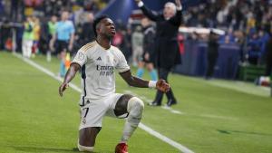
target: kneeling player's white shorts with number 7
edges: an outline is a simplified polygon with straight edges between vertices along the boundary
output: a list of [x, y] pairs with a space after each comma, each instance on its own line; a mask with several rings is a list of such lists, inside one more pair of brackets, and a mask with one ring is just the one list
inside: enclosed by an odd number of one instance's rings
[[81, 122], [79, 129], [102, 127], [102, 118], [105, 115], [116, 117], [114, 113], [115, 105], [122, 95], [121, 93], [112, 93], [100, 100], [89, 100], [85, 106], [80, 108]]

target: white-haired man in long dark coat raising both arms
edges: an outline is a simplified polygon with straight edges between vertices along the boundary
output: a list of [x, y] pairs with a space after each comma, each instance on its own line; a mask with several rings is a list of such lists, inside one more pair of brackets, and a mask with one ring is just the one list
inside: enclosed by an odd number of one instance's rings
[[[167, 81], [170, 70], [175, 64], [181, 62], [179, 44], [177, 41], [177, 35], [181, 24], [182, 7], [180, 0], [176, 0], [176, 5], [171, 2], [166, 3], [162, 14], [157, 14], [149, 10], [143, 5], [141, 0], [135, 0], [135, 2], [141, 8], [143, 14], [157, 24], [155, 53], [157, 53], [159, 78]], [[162, 96], [163, 92], [157, 91], [156, 98], [150, 105], [160, 106]], [[177, 103], [171, 89], [166, 93], [166, 96], [168, 99], [168, 106]]]

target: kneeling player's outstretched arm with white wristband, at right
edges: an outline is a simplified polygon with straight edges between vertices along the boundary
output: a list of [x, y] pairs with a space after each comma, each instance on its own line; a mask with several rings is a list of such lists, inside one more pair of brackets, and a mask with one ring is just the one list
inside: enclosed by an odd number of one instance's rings
[[131, 75], [130, 70], [127, 72], [121, 72], [120, 75], [124, 81], [126, 81], [129, 85], [133, 87], [156, 88], [163, 92], [167, 92], [170, 90], [170, 85], [162, 79], [160, 79], [159, 81], [145, 81], [141, 78]]

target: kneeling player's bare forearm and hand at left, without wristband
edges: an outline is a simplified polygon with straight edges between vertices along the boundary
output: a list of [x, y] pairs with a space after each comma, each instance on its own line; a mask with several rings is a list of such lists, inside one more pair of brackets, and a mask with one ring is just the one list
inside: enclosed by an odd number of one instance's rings
[[80, 70], [81, 66], [78, 63], [72, 63], [68, 72], [66, 72], [64, 81], [62, 85], [59, 87], [59, 94], [63, 96], [63, 91], [68, 88], [68, 83], [73, 80], [76, 72]]

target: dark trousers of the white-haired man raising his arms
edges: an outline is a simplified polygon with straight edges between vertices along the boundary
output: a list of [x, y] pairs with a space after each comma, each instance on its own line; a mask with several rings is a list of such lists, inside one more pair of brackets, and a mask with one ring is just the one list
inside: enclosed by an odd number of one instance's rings
[[[159, 78], [168, 82], [167, 77], [168, 77], [170, 70], [167, 70], [164, 68], [159, 68], [158, 70], [159, 70]], [[171, 88], [170, 88], [170, 91], [166, 92], [166, 96], [167, 96], [168, 100], [176, 100]], [[158, 102], [159, 104], [161, 104], [162, 98], [163, 98], [163, 92], [157, 90], [155, 101]]]

